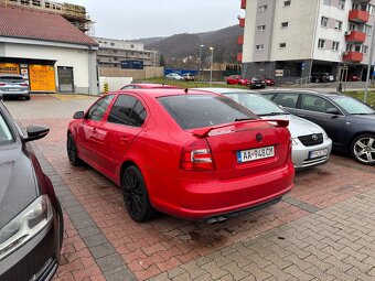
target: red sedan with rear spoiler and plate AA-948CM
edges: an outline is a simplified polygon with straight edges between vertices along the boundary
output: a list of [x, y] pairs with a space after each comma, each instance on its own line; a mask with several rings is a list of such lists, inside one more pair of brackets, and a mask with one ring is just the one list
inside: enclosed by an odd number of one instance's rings
[[85, 161], [121, 186], [133, 220], [157, 209], [212, 223], [291, 190], [287, 126], [215, 94], [137, 89], [76, 112], [66, 145], [73, 165]]

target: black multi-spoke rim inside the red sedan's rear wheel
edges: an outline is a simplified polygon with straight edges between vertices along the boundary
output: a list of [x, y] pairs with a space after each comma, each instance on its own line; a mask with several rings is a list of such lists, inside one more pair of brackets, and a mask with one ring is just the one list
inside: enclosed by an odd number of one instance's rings
[[142, 182], [132, 170], [127, 171], [124, 177], [124, 202], [132, 216], [138, 217], [143, 212]]

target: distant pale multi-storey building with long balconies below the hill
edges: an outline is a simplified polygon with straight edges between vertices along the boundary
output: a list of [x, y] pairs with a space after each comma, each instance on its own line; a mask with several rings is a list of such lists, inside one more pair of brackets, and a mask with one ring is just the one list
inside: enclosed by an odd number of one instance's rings
[[159, 52], [144, 50], [143, 43], [141, 42], [105, 37], [93, 39], [99, 44], [97, 52], [97, 63], [99, 67], [128, 68], [129, 65], [139, 66], [140, 64], [143, 66], [159, 66]]

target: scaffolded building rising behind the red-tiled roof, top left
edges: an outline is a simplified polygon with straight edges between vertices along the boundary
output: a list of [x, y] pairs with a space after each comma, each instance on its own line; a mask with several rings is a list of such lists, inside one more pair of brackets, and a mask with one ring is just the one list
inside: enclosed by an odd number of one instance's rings
[[50, 0], [0, 0], [0, 3], [4, 7], [22, 7], [23, 9], [58, 13], [81, 31], [89, 34], [94, 32], [94, 22], [89, 19], [86, 8], [83, 6]]

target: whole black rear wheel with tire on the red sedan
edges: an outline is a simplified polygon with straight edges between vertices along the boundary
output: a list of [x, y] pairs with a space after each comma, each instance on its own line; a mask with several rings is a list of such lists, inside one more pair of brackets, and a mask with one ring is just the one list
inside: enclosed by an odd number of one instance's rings
[[125, 207], [133, 220], [142, 223], [154, 216], [156, 210], [150, 204], [143, 176], [138, 167], [131, 165], [125, 170], [121, 187]]

